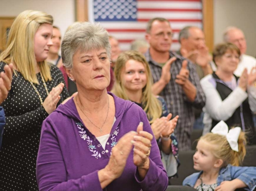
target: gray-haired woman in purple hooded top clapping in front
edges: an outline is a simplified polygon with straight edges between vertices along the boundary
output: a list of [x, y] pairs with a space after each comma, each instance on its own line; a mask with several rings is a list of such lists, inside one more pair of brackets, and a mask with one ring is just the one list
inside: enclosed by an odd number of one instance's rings
[[106, 90], [107, 31], [79, 23], [65, 34], [61, 52], [78, 94], [42, 125], [39, 190], [166, 190], [168, 177], [146, 113]]

